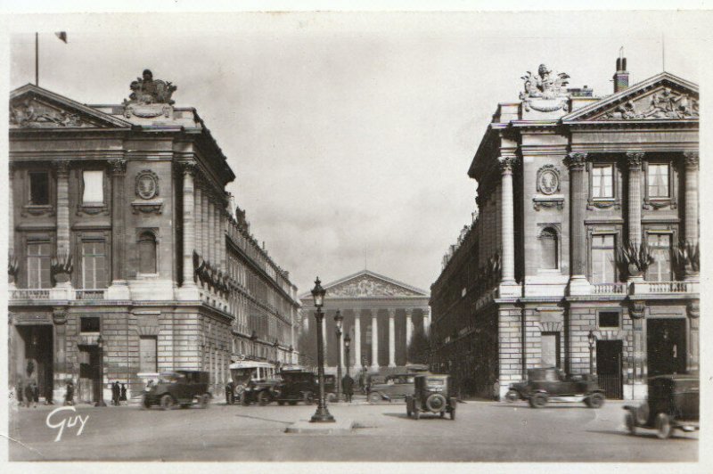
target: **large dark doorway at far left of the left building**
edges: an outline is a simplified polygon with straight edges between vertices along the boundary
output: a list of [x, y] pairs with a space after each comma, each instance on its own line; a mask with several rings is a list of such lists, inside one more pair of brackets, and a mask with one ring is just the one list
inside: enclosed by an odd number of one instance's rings
[[35, 381], [39, 396], [46, 399], [47, 396], [51, 396], [54, 388], [53, 326], [39, 324], [18, 326], [17, 329], [24, 346], [24, 355], [21, 359], [23, 388], [29, 380]]

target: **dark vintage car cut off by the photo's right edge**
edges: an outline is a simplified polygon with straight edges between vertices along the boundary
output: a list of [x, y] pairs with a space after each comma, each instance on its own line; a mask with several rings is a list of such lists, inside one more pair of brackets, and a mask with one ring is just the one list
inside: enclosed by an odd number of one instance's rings
[[649, 379], [649, 395], [643, 404], [625, 405], [624, 421], [630, 434], [636, 428], [656, 429], [666, 439], [674, 429], [699, 429], [700, 381], [697, 373], [659, 375]]

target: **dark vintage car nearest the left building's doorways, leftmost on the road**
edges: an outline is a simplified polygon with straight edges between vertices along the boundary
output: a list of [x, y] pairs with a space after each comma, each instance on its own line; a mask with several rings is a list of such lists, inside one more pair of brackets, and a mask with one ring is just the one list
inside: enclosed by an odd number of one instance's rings
[[143, 394], [143, 408], [160, 405], [169, 410], [180, 405], [187, 408], [198, 404], [206, 408], [210, 400], [208, 391], [209, 372], [175, 371], [163, 372], [159, 381]]

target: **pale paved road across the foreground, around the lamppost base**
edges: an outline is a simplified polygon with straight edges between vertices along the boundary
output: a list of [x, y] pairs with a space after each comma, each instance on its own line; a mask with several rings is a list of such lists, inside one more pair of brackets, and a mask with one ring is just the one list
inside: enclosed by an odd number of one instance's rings
[[[631, 437], [621, 403], [602, 409], [552, 405], [534, 410], [522, 403], [468, 402], [455, 421], [406, 418], [403, 404], [330, 405], [339, 419], [360, 428], [340, 436], [286, 434], [307, 420], [314, 406], [210, 405], [162, 412], [138, 406], [78, 406], [86, 424], [58, 429], [45, 420], [51, 407], [11, 409], [13, 461], [696, 461], [698, 434], [676, 432], [661, 441], [652, 431]], [[51, 422], [65, 415], [55, 413]], [[320, 439], [316, 440], [316, 437]]]

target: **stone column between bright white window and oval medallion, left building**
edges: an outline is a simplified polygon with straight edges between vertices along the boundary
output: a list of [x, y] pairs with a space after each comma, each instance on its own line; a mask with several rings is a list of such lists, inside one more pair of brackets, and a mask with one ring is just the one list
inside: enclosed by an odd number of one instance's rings
[[[126, 230], [124, 200], [127, 175], [126, 159], [111, 159], [111, 286], [107, 298], [131, 298], [127, 283]], [[79, 264], [79, 262], [77, 262]]]

